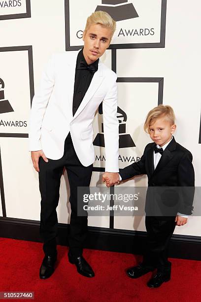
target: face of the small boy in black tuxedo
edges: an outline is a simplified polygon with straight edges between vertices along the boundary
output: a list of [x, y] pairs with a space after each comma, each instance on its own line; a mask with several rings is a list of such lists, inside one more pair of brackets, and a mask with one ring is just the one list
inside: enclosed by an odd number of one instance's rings
[[149, 125], [149, 135], [157, 145], [163, 147], [171, 140], [175, 129], [176, 125], [171, 125], [165, 117], [161, 117]]

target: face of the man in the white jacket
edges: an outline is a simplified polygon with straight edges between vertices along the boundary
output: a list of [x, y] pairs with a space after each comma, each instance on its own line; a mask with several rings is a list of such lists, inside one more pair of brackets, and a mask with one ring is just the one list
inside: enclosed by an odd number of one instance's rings
[[87, 64], [92, 64], [99, 59], [109, 47], [111, 30], [100, 24], [92, 24], [87, 32], [83, 33], [83, 54]]

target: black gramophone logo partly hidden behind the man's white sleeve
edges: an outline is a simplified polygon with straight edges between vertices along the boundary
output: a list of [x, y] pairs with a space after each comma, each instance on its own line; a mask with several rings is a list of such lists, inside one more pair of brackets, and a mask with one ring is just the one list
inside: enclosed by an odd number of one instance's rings
[[[99, 114], [102, 114], [102, 103], [99, 106]], [[126, 121], [127, 121], [127, 115], [126, 113], [121, 109], [117, 108], [117, 118], [119, 119], [119, 148], [129, 148], [129, 147], [135, 147], [134, 141], [132, 140], [132, 137], [130, 134], [126, 134]], [[99, 147], [105, 147], [104, 145], [104, 129], [103, 129], [103, 123], [101, 124], [101, 132], [98, 133], [95, 140], [94, 140], [94, 146]]]

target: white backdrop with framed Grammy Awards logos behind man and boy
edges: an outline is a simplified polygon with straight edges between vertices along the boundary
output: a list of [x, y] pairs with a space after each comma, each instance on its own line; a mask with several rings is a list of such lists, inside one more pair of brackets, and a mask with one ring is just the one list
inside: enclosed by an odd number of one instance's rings
[[[175, 139], [193, 153], [196, 186], [201, 186], [201, 2], [194, 0], [0, 0], [0, 216], [40, 219], [38, 175], [28, 151], [29, 113], [34, 89], [54, 52], [81, 47], [87, 17], [105, 10], [117, 30], [101, 60], [118, 76], [119, 166], [137, 161], [150, 142], [145, 116], [158, 104], [173, 107]], [[91, 186], [104, 186], [102, 114], [94, 120], [96, 161]], [[98, 146], [97, 146], [98, 145]], [[122, 186], [147, 186], [138, 177]], [[61, 180], [60, 223], [69, 223], [67, 173]], [[201, 236], [200, 217], [175, 233]], [[109, 217], [89, 225], [109, 227]], [[144, 217], [114, 217], [114, 228], [145, 230]]]

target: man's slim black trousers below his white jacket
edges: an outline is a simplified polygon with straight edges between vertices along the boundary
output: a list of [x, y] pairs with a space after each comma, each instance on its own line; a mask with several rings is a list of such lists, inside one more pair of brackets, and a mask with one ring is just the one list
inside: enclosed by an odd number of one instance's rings
[[68, 134], [65, 140], [64, 155], [58, 160], [48, 158], [45, 162], [39, 158], [39, 189], [41, 194], [40, 236], [43, 240], [45, 254], [53, 254], [56, 251], [56, 236], [58, 231], [58, 219], [56, 208], [59, 203], [60, 180], [64, 170], [70, 187], [69, 202], [71, 206], [69, 226], [69, 250], [79, 257], [82, 255], [83, 242], [87, 235], [87, 216], [77, 215], [77, 187], [89, 187], [93, 164], [85, 167], [79, 161], [73, 144]]

